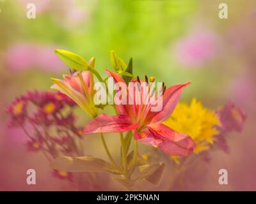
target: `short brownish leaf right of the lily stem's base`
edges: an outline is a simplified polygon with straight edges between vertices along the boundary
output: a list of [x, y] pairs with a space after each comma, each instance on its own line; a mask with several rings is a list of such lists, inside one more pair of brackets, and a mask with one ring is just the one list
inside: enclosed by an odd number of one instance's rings
[[141, 171], [140, 175], [136, 178], [136, 180], [145, 179], [148, 182], [157, 185], [161, 180], [164, 168], [164, 163], [153, 164], [152, 166], [149, 166], [148, 168], [145, 168], [145, 170]]

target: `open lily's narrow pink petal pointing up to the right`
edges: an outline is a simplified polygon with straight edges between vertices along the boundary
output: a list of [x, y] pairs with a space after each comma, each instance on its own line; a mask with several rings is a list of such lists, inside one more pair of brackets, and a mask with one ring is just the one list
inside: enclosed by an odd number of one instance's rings
[[191, 82], [186, 82], [185, 84], [173, 85], [166, 89], [163, 94], [163, 109], [160, 112], [148, 113], [148, 119], [152, 118], [150, 124], [163, 122], [170, 117], [179, 101], [182, 89], [190, 83]]

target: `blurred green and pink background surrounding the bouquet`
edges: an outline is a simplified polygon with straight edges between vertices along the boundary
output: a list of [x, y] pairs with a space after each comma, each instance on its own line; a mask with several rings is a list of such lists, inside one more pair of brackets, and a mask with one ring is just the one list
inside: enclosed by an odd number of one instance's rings
[[[28, 3], [35, 3], [36, 19], [26, 18]], [[220, 3], [228, 4], [228, 19], [218, 17]], [[229, 101], [243, 108], [246, 124], [243, 133], [228, 136], [230, 153], [216, 151], [211, 163], [196, 165], [183, 190], [255, 191], [255, 23], [254, 0], [0, 0], [0, 190], [76, 190], [52, 177], [42, 154], [26, 150], [22, 131], [6, 128], [5, 107], [16, 96], [49, 90], [51, 77], [68, 73], [54, 55], [54, 48], [63, 48], [85, 59], [94, 56], [102, 75], [115, 50], [125, 61], [133, 57], [134, 73], [141, 77], [168, 85], [191, 80], [182, 101], [196, 96], [212, 109]], [[90, 120], [81, 110], [77, 114], [82, 124]], [[108, 135], [108, 143], [117, 157], [115, 136]], [[90, 154], [106, 157], [98, 136], [84, 141]], [[36, 170], [36, 185], [26, 184], [29, 168]], [[218, 184], [221, 168], [228, 170], [228, 185]], [[164, 177], [171, 174], [166, 170]]]

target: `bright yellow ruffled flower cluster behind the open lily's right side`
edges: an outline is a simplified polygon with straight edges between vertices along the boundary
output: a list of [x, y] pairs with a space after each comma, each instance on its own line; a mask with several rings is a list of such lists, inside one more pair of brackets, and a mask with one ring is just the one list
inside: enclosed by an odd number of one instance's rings
[[[195, 141], [194, 153], [208, 150], [218, 135], [220, 120], [216, 113], [193, 98], [191, 103], [178, 103], [172, 115], [163, 122], [179, 133], [186, 133]], [[173, 158], [177, 159], [177, 158]]]

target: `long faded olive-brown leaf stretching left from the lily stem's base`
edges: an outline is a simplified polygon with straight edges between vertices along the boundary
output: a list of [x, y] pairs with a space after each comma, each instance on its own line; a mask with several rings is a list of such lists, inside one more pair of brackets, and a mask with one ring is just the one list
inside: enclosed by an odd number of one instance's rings
[[116, 171], [112, 164], [92, 156], [60, 156], [52, 161], [50, 166], [56, 170], [70, 172], [108, 171], [109, 173], [118, 174], [118, 171]]

